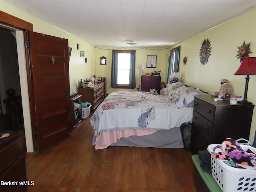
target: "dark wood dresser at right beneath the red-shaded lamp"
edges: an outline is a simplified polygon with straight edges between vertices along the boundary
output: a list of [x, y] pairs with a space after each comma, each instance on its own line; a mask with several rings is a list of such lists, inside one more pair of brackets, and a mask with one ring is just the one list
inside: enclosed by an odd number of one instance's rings
[[211, 95], [196, 95], [192, 120], [191, 152], [206, 150], [209, 144], [221, 144], [226, 137], [249, 140], [255, 105], [214, 101]]

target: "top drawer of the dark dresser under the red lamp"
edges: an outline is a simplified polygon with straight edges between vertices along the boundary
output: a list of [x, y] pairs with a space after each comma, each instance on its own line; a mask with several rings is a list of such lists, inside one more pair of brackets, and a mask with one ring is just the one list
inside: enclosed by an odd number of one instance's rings
[[194, 110], [200, 113], [202, 116], [213, 122], [215, 114], [215, 106], [201, 100], [197, 97], [194, 99]]

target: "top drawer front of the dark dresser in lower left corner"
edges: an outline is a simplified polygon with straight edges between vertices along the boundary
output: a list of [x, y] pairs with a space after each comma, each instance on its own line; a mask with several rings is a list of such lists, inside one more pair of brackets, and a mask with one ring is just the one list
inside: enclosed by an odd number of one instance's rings
[[4, 169], [10, 166], [10, 164], [12, 164], [16, 159], [22, 156], [24, 154], [24, 151], [25, 149], [23, 137], [20, 137], [14, 142], [11, 142], [10, 144], [1, 148], [0, 156], [4, 158], [1, 158], [0, 172], [2, 172]]

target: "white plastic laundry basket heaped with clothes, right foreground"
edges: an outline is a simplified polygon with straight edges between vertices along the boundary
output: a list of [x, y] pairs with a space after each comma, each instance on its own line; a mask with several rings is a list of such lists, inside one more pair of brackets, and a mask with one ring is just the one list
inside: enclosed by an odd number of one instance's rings
[[[213, 149], [218, 144], [210, 144], [207, 148], [211, 154], [212, 177], [223, 192], [256, 191], [256, 170], [240, 169], [226, 165], [222, 160], [212, 157]], [[221, 144], [219, 144], [221, 145]], [[243, 150], [250, 149], [256, 153], [256, 148], [242, 145]]]

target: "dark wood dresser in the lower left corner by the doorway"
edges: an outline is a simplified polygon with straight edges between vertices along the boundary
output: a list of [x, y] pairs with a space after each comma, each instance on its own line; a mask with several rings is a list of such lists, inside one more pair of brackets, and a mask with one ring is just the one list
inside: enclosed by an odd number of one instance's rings
[[24, 133], [6, 130], [0, 135], [4, 133], [10, 133], [10, 136], [0, 138], [0, 181], [9, 184], [1, 184], [0, 191], [26, 192], [27, 186], [24, 183], [18, 184], [18, 182], [26, 182]]

